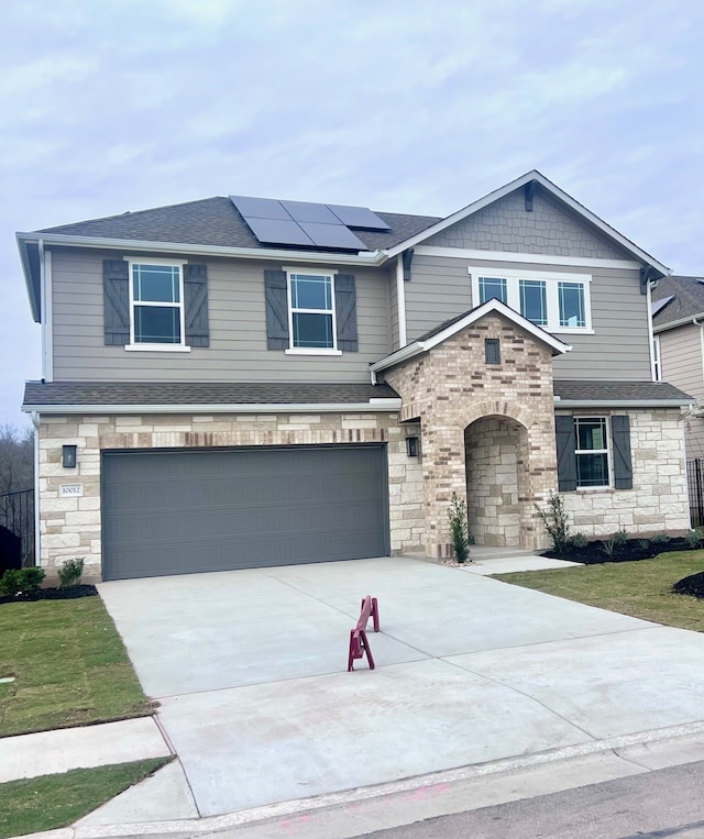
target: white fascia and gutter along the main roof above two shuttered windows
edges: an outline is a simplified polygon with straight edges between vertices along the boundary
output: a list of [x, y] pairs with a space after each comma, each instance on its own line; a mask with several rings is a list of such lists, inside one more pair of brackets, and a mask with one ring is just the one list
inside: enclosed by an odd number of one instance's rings
[[99, 236], [73, 236], [65, 233], [18, 233], [20, 242], [44, 241], [44, 245], [63, 247], [91, 247], [108, 251], [153, 251], [154, 253], [195, 254], [198, 256], [231, 256], [243, 260], [276, 260], [300, 263], [330, 263], [341, 265], [382, 265], [387, 256], [384, 251], [359, 254], [278, 251], [268, 247], [227, 247], [223, 245], [196, 245], [187, 242], [150, 242], [139, 239], [105, 239]]

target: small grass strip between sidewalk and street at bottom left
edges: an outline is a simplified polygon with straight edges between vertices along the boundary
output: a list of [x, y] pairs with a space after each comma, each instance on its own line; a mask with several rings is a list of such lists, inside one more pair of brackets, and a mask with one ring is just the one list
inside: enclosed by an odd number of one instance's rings
[[70, 825], [169, 760], [157, 758], [112, 766], [75, 769], [62, 775], [42, 775], [0, 784], [0, 839]]

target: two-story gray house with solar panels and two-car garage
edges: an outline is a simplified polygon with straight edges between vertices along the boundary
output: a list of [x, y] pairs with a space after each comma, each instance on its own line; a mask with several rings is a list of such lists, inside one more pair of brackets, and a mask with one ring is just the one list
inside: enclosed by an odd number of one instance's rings
[[18, 234], [41, 563], [94, 576], [689, 527], [664, 265], [540, 173], [446, 219], [210, 198]]

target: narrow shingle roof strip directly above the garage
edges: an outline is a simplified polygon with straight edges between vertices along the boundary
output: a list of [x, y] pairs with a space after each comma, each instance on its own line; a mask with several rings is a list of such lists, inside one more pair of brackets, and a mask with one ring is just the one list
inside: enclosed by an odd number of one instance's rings
[[35, 405], [359, 405], [397, 398], [388, 385], [202, 382], [28, 382]]

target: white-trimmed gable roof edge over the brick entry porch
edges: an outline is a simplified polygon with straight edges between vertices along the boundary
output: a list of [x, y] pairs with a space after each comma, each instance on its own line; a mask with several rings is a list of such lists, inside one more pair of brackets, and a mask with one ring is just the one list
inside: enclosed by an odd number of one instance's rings
[[547, 344], [553, 355], [566, 353], [572, 349], [569, 344], [560, 341], [559, 338], [551, 335], [549, 332], [546, 332], [544, 329], [537, 327], [527, 318], [524, 318], [522, 314], [519, 314], [517, 311], [506, 306], [506, 303], [503, 303], [496, 298], [492, 298], [485, 303], [482, 303], [482, 306], [477, 306], [475, 309], [471, 309], [470, 311], [459, 314], [457, 318], [440, 323], [440, 325], [430, 330], [430, 332], [426, 332], [425, 335], [421, 335], [411, 344], [408, 344], [407, 346], [391, 353], [391, 355], [381, 358], [375, 364], [370, 365], [370, 369], [372, 371], [372, 374], [375, 374], [380, 371], [387, 369], [388, 367], [394, 367], [396, 364], [402, 364], [416, 355], [427, 353], [435, 346], [438, 346], [438, 344], [448, 341], [453, 335], [457, 335], [458, 332], [466, 329], [466, 327], [471, 327], [473, 323], [476, 323], [476, 321], [493, 312], [501, 314], [503, 318], [506, 318], [506, 320], [528, 332], [536, 341]]

